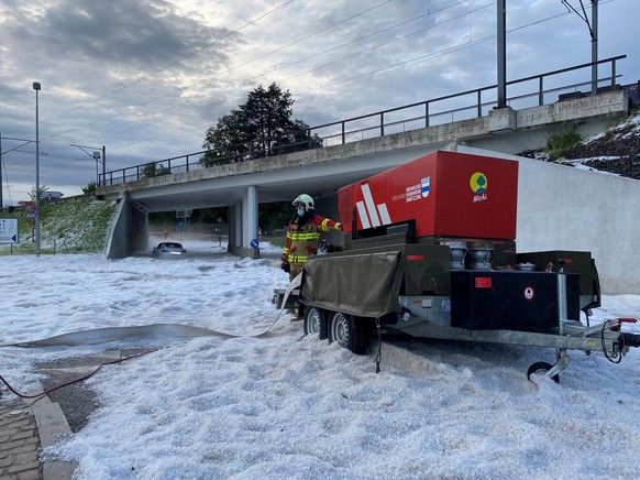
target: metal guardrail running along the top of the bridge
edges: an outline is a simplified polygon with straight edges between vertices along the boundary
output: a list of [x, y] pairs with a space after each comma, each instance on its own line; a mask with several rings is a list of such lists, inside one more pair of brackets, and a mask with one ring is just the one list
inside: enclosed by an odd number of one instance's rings
[[[616, 85], [616, 79], [620, 77], [620, 75], [616, 73], [616, 63], [626, 57], [627, 55], [618, 55], [596, 62], [597, 65], [606, 64], [609, 65], [610, 68], [610, 74], [608, 76], [598, 78], [598, 85], [605, 85], [598, 87], [598, 91], [619, 88]], [[562, 100], [563, 97], [586, 96], [582, 94], [580, 88], [591, 85], [591, 67], [593, 64], [593, 62], [589, 62], [507, 81], [507, 89], [511, 90], [511, 92], [507, 91], [507, 103], [510, 107], [518, 105], [519, 108], [527, 108], [544, 105], [544, 101], [548, 100], [551, 95], [554, 96], [554, 101]], [[585, 68], [589, 68], [589, 80], [575, 81], [575, 79], [572, 78], [573, 75]], [[563, 76], [569, 76], [571, 79], [562, 80]], [[531, 87], [531, 84], [534, 84], [533, 88]], [[221, 152], [216, 155], [216, 159], [220, 163], [242, 162], [245, 160], [243, 159], [243, 155], [249, 155], [252, 160], [255, 157], [267, 157], [286, 153], [285, 151], [308, 150], [313, 148], [312, 145], [318, 144], [318, 142], [321, 142], [321, 146], [331, 146], [384, 137], [391, 133], [407, 132], [435, 124], [479, 118], [497, 106], [497, 85], [490, 85], [312, 127], [308, 130], [308, 140], [304, 142], [285, 143], [282, 138], [254, 139], [251, 142], [252, 144], [264, 144], [274, 141], [274, 146], [266, 150], [254, 150], [246, 154], [225, 154], [224, 152]], [[562, 95], [562, 92], [564, 92], [564, 95]], [[555, 95], [558, 95], [558, 98]], [[591, 95], [591, 90], [588, 95]], [[395, 118], [398, 114], [405, 114], [408, 117]], [[99, 186], [117, 185], [153, 176], [205, 168], [200, 163], [200, 159], [207, 153], [212, 152], [203, 150], [186, 155], [173, 156], [170, 159], [107, 172], [99, 175]]]

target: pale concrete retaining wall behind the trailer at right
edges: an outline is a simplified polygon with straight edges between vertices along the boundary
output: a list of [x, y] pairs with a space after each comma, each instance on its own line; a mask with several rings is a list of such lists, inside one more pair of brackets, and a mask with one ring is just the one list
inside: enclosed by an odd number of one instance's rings
[[604, 294], [640, 294], [640, 182], [459, 145], [519, 162], [518, 252], [591, 251]]

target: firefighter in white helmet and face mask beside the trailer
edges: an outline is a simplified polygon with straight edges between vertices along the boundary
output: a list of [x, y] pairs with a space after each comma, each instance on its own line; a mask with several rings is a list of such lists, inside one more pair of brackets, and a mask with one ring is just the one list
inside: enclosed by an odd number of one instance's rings
[[321, 231], [342, 230], [342, 223], [316, 215], [313, 198], [301, 194], [293, 201], [296, 212], [289, 221], [280, 268], [294, 280], [305, 266], [308, 255], [318, 253]]

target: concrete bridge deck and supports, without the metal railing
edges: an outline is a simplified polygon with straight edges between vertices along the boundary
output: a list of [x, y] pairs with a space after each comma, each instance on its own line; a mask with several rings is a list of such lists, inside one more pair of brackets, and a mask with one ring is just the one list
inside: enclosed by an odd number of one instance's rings
[[260, 204], [285, 201], [300, 193], [316, 198], [318, 210], [338, 215], [336, 189], [434, 150], [460, 146], [517, 154], [541, 148], [550, 131], [580, 126], [583, 135], [602, 132], [628, 112], [624, 90], [515, 110], [506, 107], [486, 116], [407, 132], [385, 134], [285, 155], [217, 165], [189, 172], [100, 186], [97, 195], [120, 200], [119, 218], [108, 257], [145, 251], [148, 212], [229, 208], [229, 250], [260, 257]]

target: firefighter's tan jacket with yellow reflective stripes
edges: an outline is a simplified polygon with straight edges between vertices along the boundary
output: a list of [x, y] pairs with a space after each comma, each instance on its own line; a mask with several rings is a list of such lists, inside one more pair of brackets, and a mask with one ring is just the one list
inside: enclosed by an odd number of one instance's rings
[[308, 211], [301, 217], [296, 215], [289, 221], [282, 259], [289, 263], [305, 263], [308, 255], [318, 253], [320, 232], [329, 230], [342, 230], [342, 223]]

